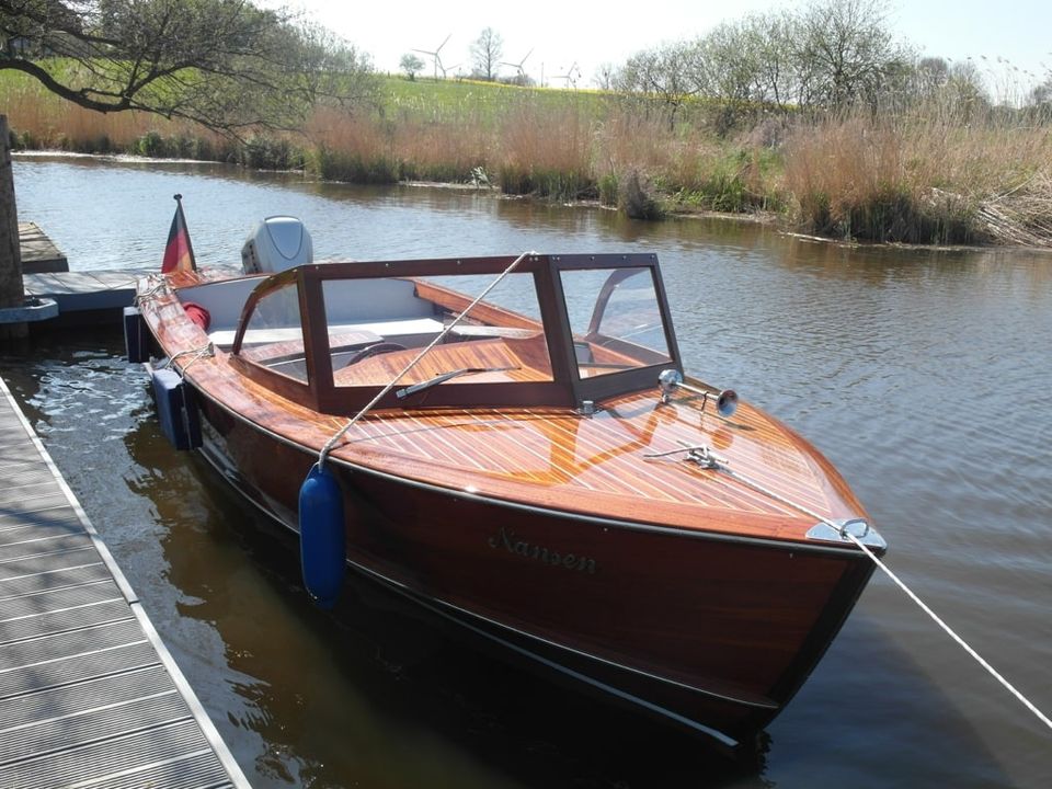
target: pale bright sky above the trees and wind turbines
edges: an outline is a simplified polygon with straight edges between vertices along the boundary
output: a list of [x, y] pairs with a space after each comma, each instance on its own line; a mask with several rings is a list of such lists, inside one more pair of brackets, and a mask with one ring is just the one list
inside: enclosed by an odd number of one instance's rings
[[[724, 20], [753, 12], [800, 9], [792, 0], [285, 0], [371, 55], [381, 71], [399, 71], [402, 55], [434, 52], [453, 77], [471, 70], [469, 47], [484, 27], [503, 38], [502, 60], [517, 64], [535, 81], [564, 85], [574, 65], [578, 87], [594, 87], [603, 64], [618, 66], [631, 55], [665, 42], [694, 38]], [[1052, 78], [1050, 0], [888, 0], [888, 22], [896, 38], [922, 55], [951, 61], [969, 57], [995, 89], [1032, 87]], [[448, 36], [448, 41], [446, 37]], [[430, 55], [418, 53], [433, 72]], [[999, 60], [998, 60], [999, 58]], [[1007, 64], [1005, 62], [1007, 60]], [[512, 76], [514, 67], [504, 66]]]

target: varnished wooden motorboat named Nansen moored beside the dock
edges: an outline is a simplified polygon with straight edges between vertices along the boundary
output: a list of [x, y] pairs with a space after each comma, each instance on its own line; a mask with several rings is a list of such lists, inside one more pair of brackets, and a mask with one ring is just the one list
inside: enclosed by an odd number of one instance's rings
[[884, 549], [808, 442], [682, 378], [652, 254], [181, 272], [139, 310], [187, 396], [173, 438], [265, 513], [299, 530], [321, 458], [341, 568], [728, 747], [830, 645], [858, 542]]

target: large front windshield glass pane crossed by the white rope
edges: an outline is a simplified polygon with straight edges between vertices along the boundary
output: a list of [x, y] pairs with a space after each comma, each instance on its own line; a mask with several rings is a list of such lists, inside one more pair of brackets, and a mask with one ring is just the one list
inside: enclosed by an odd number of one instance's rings
[[[322, 283], [338, 387], [385, 386], [494, 276], [329, 279]], [[399, 378], [402, 386], [552, 380], [531, 274], [511, 274]], [[442, 380], [434, 380], [437, 378]], [[425, 398], [426, 388], [413, 392]]]

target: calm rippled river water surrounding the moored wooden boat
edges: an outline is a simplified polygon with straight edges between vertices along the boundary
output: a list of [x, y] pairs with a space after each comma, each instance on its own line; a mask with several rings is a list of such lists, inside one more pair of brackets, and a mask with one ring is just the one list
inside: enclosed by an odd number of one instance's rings
[[[647, 250], [687, 366], [821, 447], [889, 561], [1052, 712], [1052, 255], [844, 249], [449, 190], [221, 167], [21, 159], [21, 217], [75, 270], [159, 265], [181, 192], [198, 262], [293, 214], [319, 258]], [[874, 578], [759, 765], [622, 716], [362, 587], [334, 615], [294, 546], [164, 443], [115, 332], [0, 358], [254, 787], [1048, 787], [1052, 732]]]

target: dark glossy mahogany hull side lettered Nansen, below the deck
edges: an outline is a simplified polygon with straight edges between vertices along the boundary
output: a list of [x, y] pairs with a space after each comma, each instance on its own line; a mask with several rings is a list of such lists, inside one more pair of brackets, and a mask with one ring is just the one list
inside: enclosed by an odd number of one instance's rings
[[[296, 529], [316, 453], [199, 403], [206, 457]], [[872, 573], [850, 549], [587, 518], [330, 462], [353, 568], [730, 747], [789, 701]]]

